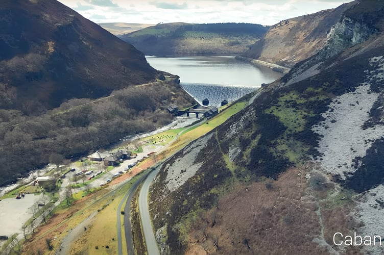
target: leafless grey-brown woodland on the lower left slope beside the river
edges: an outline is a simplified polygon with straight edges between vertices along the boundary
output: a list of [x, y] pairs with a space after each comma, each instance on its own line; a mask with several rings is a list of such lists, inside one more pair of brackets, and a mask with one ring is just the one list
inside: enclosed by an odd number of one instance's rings
[[169, 105], [194, 103], [177, 82], [158, 82], [96, 100], [73, 98], [39, 116], [0, 109], [0, 185], [54, 163], [50, 159], [77, 159], [125, 136], [154, 130], [172, 121]]

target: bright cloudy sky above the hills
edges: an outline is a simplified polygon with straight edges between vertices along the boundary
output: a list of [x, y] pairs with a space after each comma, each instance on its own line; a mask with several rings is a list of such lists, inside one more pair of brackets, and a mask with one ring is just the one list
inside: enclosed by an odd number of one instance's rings
[[[59, 0], [96, 23], [249, 22], [282, 19], [342, 5], [339, 0]], [[350, 1], [346, 1], [350, 2]]]

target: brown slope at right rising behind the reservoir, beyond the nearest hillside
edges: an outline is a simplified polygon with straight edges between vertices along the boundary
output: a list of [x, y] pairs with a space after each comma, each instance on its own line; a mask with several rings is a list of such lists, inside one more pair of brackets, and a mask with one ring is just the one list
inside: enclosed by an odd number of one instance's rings
[[241, 56], [293, 67], [325, 45], [330, 28], [351, 5], [282, 20]]

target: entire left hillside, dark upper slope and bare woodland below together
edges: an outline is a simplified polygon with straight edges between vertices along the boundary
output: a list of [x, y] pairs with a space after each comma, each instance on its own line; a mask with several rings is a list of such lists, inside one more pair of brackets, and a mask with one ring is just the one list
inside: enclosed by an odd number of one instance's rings
[[57, 1], [2, 1], [0, 16], [0, 186], [195, 104], [177, 75]]

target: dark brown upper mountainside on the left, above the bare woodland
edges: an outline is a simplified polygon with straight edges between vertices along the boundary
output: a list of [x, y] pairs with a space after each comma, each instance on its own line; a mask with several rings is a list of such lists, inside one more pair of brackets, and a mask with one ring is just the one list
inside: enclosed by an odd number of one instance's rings
[[156, 79], [135, 47], [56, 0], [4, 0], [0, 16], [0, 108], [36, 114]]

